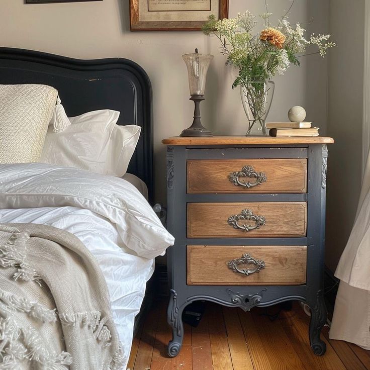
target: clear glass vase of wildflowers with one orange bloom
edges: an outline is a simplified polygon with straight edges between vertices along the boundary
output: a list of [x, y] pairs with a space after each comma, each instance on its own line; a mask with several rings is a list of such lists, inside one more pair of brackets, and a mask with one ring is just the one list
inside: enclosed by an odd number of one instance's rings
[[247, 135], [253, 132], [253, 128], [257, 134], [267, 135], [265, 119], [274, 89], [271, 78], [276, 74], [283, 75], [291, 64], [299, 66], [298, 58], [305, 55], [309, 46], [316, 46], [317, 53], [323, 57], [328, 48], [335, 46], [335, 43], [327, 42], [330, 35], [312, 34], [306, 39], [306, 30], [299, 23], [295, 27], [289, 23], [289, 11], [275, 27], [269, 21], [272, 13], [262, 14], [264, 29], [259, 34], [253, 34], [256, 17], [248, 11], [223, 20], [211, 15], [203, 26], [206, 35], [214, 35], [220, 40], [221, 51], [227, 56], [226, 64], [233, 65], [239, 72], [233, 88], [240, 86], [248, 119]]

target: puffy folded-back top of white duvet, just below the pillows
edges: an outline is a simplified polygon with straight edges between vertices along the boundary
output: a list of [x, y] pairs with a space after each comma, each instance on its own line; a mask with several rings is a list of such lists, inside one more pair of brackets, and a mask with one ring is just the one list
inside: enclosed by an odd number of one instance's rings
[[149, 203], [128, 181], [44, 163], [0, 165], [0, 209], [79, 207], [108, 218], [124, 245], [154, 258], [174, 238]]

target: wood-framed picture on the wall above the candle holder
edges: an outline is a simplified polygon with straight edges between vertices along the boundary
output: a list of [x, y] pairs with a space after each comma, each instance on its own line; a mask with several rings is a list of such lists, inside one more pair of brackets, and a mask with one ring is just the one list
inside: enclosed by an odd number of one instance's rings
[[130, 0], [131, 31], [198, 31], [214, 14], [228, 17], [229, 0]]

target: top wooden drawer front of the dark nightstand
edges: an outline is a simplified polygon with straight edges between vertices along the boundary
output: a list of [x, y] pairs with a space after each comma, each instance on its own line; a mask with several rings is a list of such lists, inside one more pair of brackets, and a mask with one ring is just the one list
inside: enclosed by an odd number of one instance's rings
[[189, 194], [307, 192], [307, 159], [188, 160], [187, 172]]

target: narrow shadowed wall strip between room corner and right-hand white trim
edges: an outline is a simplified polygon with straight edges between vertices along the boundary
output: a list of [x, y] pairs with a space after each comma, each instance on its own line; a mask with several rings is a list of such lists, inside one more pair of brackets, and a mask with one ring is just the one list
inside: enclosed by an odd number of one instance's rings
[[361, 188], [365, 0], [330, 0], [326, 263], [334, 271], [352, 229]]

